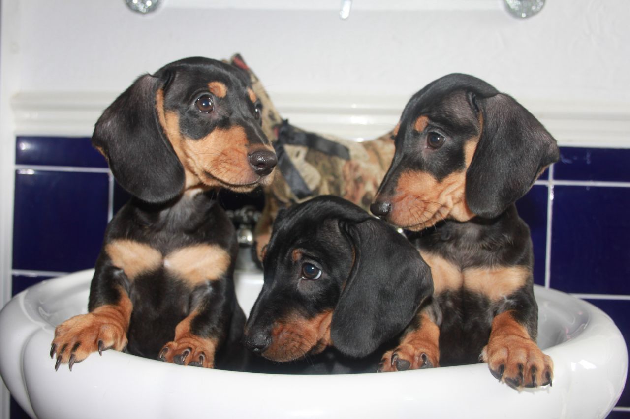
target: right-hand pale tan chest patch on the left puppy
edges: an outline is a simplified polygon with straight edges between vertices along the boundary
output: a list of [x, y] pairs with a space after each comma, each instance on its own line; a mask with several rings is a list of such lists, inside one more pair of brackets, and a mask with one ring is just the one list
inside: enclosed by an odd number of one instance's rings
[[219, 279], [227, 271], [230, 262], [230, 255], [220, 246], [200, 244], [167, 255], [164, 267], [176, 272], [190, 286], [195, 286]]

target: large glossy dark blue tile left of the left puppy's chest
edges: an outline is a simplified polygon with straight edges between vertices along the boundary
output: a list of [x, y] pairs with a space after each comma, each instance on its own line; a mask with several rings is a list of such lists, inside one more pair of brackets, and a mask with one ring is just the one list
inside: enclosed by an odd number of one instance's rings
[[21, 169], [15, 177], [13, 268], [93, 267], [107, 225], [105, 173]]

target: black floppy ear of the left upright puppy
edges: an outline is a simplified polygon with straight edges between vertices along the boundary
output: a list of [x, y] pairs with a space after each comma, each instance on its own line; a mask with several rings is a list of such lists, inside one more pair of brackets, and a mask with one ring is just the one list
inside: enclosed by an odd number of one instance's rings
[[[185, 175], [157, 115], [156, 95], [171, 74], [142, 75], [96, 121], [92, 144], [129, 193], [161, 203], [181, 193]], [[161, 106], [161, 104], [159, 105]]]

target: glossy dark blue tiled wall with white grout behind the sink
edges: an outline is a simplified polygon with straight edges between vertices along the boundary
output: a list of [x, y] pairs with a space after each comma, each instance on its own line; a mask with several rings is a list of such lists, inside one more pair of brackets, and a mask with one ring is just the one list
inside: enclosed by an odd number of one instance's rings
[[[106, 162], [89, 138], [18, 137], [15, 157], [17, 293], [59, 272], [93, 267], [108, 214], [127, 202], [129, 194], [110, 184]], [[530, 226], [536, 283], [588, 298], [609, 313], [628, 342], [630, 149], [562, 147], [561, 160], [517, 207]], [[630, 407], [629, 390], [619, 406]], [[617, 410], [610, 417], [630, 419], [630, 412]]]

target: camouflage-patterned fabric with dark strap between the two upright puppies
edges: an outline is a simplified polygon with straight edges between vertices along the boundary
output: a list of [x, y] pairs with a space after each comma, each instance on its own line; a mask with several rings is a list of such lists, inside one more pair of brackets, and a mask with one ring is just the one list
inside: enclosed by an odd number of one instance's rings
[[282, 119], [241, 55], [232, 56], [229, 62], [248, 72], [253, 91], [263, 104], [263, 131], [278, 155], [279, 170], [265, 191], [265, 208], [254, 232], [258, 255], [268, 242], [280, 208], [333, 194], [369, 211], [394, 157], [391, 131], [374, 140], [356, 142], [301, 130]]

